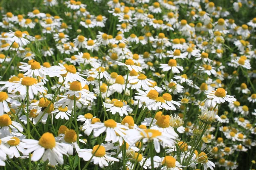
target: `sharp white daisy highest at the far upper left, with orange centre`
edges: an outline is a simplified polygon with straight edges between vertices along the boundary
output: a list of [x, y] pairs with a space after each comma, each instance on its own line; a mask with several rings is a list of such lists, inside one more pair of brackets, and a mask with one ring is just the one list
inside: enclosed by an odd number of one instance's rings
[[26, 40], [24, 37], [26, 37], [26, 34], [23, 34], [21, 31], [15, 31], [12, 32], [10, 30], [9, 33], [6, 33], [6, 35], [10, 38], [9, 40], [11, 42], [16, 42], [20, 46], [24, 46], [29, 44], [29, 40]]

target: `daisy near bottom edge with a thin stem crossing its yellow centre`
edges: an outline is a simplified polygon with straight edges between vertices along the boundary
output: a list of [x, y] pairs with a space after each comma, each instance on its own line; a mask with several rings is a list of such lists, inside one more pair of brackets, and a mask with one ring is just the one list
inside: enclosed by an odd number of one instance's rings
[[93, 149], [81, 149], [79, 150], [79, 157], [84, 159], [84, 161], [89, 161], [91, 158], [91, 162], [93, 164], [98, 165], [101, 168], [108, 167], [110, 161], [117, 161], [119, 159], [111, 157], [111, 155], [115, 155], [116, 153], [111, 152], [108, 153], [106, 151], [111, 150], [113, 148], [113, 143], [110, 144], [97, 144], [93, 147]]

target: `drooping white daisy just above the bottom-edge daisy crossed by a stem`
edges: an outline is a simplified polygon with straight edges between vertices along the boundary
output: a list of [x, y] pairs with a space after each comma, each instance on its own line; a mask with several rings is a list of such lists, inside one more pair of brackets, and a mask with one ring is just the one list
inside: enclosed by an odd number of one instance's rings
[[108, 119], [104, 123], [96, 122], [91, 124], [90, 127], [93, 128], [93, 136], [98, 137], [103, 132], [106, 132], [105, 141], [112, 141], [113, 143], [117, 142], [117, 135], [123, 137], [126, 134], [126, 130], [129, 129], [129, 127], [121, 125], [113, 119]]

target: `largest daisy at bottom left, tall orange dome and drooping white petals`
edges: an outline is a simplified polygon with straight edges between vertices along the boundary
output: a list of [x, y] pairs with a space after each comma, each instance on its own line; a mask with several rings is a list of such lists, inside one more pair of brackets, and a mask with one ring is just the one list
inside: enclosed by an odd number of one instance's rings
[[67, 155], [67, 151], [62, 147], [64, 144], [55, 142], [52, 133], [44, 133], [39, 141], [34, 139], [23, 139], [22, 142], [25, 143], [25, 148], [28, 148], [24, 155], [32, 153], [31, 161], [38, 161], [42, 158], [43, 161], [49, 161], [51, 165], [63, 164], [63, 155]]

